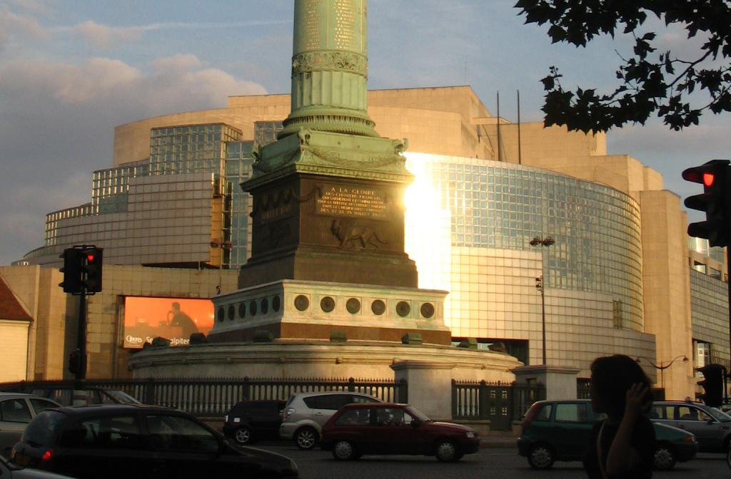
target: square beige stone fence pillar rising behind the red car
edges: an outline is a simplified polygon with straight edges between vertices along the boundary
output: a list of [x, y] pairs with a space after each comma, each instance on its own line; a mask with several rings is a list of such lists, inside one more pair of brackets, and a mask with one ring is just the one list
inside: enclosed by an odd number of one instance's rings
[[391, 369], [396, 382], [405, 379], [409, 384], [410, 405], [430, 418], [451, 420], [454, 367], [454, 363], [446, 361], [401, 361]]

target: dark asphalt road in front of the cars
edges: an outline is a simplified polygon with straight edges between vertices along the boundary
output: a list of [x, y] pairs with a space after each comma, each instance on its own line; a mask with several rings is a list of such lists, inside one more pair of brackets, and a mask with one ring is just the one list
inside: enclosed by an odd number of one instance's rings
[[[482, 448], [455, 464], [442, 464], [433, 457], [423, 456], [364, 456], [357, 461], [340, 462], [329, 452], [300, 451], [284, 442], [266, 442], [255, 447], [291, 457], [297, 462], [303, 479], [586, 478], [580, 462], [557, 462], [548, 471], [531, 470], [526, 458], [518, 456], [515, 448]], [[729, 477], [731, 471], [719, 454], [700, 454], [692, 461], [676, 464], [673, 470], [656, 471], [653, 475], [654, 479]]]

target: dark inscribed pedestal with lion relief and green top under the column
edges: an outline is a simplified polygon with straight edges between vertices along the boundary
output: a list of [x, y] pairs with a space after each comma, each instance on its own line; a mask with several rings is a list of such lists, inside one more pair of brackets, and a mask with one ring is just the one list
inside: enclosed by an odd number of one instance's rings
[[404, 252], [404, 142], [300, 131], [265, 147], [239, 288], [281, 279], [417, 286]]

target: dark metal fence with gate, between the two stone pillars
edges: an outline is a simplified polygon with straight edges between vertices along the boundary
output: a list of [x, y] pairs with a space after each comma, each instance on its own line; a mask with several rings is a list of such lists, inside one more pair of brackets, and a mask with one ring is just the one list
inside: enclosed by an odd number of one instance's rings
[[526, 383], [468, 383], [452, 380], [452, 418], [488, 419], [496, 431], [512, 429], [528, 407], [545, 399], [542, 384]]

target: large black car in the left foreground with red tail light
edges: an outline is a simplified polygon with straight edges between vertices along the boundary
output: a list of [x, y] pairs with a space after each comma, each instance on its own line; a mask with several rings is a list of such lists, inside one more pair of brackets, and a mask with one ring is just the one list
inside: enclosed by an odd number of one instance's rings
[[230, 445], [188, 413], [144, 405], [44, 411], [12, 448], [12, 461], [87, 479], [298, 477], [292, 459]]

